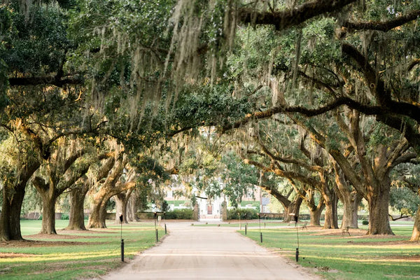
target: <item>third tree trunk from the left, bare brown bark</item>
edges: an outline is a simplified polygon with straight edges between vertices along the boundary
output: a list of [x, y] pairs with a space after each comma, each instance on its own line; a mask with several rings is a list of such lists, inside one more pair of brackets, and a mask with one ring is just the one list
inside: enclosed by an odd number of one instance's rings
[[86, 230], [84, 204], [88, 191], [87, 183], [79, 184], [71, 190], [69, 225], [66, 230]]

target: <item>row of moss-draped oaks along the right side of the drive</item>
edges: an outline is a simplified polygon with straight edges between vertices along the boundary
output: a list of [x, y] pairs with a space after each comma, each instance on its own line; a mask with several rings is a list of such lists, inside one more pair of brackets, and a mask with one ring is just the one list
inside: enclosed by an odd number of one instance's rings
[[[182, 28], [196, 30], [185, 2], [177, 6]], [[216, 57], [225, 63], [217, 66], [235, 85], [232, 94], [253, 102], [253, 112], [221, 125], [221, 132], [244, 130], [246, 137], [232, 136], [245, 162], [288, 179], [300, 194], [296, 197], [310, 201], [307, 190], [321, 193], [325, 228], [337, 227], [338, 199], [346, 209], [344, 225], [356, 226], [356, 207], [364, 198], [370, 211], [368, 233], [392, 234], [391, 185], [419, 195], [414, 173], [419, 155], [419, 3], [235, 5], [228, 2], [222, 9], [221, 45], [235, 44], [230, 52], [217, 48]], [[235, 27], [232, 36], [228, 31]], [[393, 171], [400, 174], [392, 177]], [[275, 193], [270, 186], [262, 188]], [[314, 210], [318, 206], [312, 205]], [[419, 216], [412, 240], [419, 239]]]

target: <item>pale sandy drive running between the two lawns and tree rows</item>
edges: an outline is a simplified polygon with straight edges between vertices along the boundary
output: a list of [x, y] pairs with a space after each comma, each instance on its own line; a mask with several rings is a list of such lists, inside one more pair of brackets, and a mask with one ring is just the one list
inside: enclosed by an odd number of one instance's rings
[[235, 232], [237, 228], [167, 223], [169, 235], [122, 269], [99, 279], [308, 279], [294, 262]]

